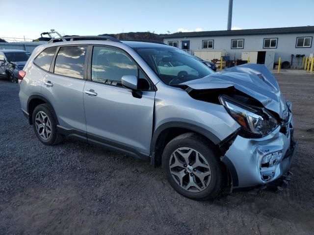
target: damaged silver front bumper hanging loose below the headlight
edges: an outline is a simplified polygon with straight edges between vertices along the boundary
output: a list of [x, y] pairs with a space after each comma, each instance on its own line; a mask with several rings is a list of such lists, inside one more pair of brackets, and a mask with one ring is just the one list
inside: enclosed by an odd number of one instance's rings
[[293, 119], [259, 139], [236, 136], [221, 161], [227, 166], [232, 188], [264, 185], [288, 171], [297, 149]]

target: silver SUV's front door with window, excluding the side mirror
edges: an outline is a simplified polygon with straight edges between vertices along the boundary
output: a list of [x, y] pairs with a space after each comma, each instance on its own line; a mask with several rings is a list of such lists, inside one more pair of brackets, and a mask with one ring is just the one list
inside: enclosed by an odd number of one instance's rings
[[[146, 87], [142, 97], [134, 97], [130, 89], [121, 86], [123, 75], [146, 79], [124, 51], [112, 47], [93, 48], [91, 78], [84, 87], [87, 138], [148, 155], [155, 91]], [[143, 84], [149, 83], [145, 80]]]

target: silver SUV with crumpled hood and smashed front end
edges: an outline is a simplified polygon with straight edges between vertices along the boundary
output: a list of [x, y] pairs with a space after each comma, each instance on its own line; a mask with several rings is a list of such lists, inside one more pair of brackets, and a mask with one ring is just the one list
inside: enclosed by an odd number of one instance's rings
[[175, 47], [71, 37], [37, 47], [19, 83], [42, 143], [71, 136], [162, 164], [192, 199], [278, 179], [297, 145], [291, 103], [264, 65], [214, 73]]

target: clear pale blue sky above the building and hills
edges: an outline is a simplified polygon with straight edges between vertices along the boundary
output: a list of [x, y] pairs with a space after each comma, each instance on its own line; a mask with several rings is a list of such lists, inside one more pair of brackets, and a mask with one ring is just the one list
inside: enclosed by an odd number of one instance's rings
[[[0, 0], [0, 38], [226, 30], [229, 0]], [[12, 9], [12, 10], [4, 10]], [[314, 25], [314, 0], [234, 0], [233, 29]]]

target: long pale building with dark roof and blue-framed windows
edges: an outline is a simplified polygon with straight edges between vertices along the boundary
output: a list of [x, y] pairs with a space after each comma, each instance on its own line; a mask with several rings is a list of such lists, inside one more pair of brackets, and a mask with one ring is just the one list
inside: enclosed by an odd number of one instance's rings
[[[213, 59], [215, 52], [230, 60], [250, 58], [250, 63], [273, 66], [274, 61], [288, 61], [294, 68], [301, 67], [303, 55], [314, 53], [314, 26], [261, 28], [224, 31], [178, 32], [161, 35], [167, 45], [187, 50], [202, 59]], [[219, 54], [219, 53], [218, 53]], [[220, 58], [215, 58], [220, 59]]]

